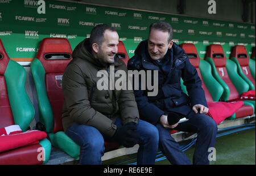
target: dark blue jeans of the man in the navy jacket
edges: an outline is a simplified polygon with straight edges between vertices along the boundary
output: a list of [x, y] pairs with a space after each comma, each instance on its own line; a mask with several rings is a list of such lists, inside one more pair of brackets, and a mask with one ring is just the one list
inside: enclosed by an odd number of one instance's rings
[[[188, 114], [188, 121], [180, 123], [174, 130], [197, 133], [193, 164], [208, 165], [208, 149], [216, 143], [217, 125], [208, 115]], [[171, 164], [191, 164], [188, 157], [180, 150], [179, 144], [170, 135], [170, 129], [156, 125], [159, 131], [159, 147]]]

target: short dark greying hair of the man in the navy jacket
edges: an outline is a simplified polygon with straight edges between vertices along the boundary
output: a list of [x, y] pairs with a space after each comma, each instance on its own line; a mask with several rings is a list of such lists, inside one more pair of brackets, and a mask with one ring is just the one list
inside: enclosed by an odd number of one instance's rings
[[[150, 32], [152, 31], [152, 29], [156, 29], [156, 30], [162, 31], [162, 32], [168, 32], [169, 33], [168, 42], [170, 42], [172, 40], [172, 36], [174, 35], [174, 29], [172, 29], [171, 24], [166, 23], [166, 22], [152, 23], [150, 25]], [[149, 34], [150, 34], [150, 32], [149, 32]]]

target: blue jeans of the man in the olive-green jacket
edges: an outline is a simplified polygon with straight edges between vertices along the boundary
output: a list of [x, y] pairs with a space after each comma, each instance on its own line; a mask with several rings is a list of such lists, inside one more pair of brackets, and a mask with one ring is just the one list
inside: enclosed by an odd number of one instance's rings
[[[121, 119], [115, 122], [121, 125]], [[137, 132], [140, 135], [137, 164], [155, 164], [158, 151], [158, 130], [154, 125], [139, 120]], [[104, 155], [104, 137], [96, 128], [75, 123], [65, 132], [69, 138], [81, 146], [80, 164], [101, 164]]]

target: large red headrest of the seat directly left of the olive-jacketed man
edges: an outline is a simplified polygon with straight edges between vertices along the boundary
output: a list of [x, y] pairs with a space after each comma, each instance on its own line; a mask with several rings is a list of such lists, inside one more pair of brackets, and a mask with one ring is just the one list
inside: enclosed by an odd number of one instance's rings
[[64, 72], [72, 60], [72, 49], [67, 38], [44, 38], [36, 58], [42, 63], [46, 73]]

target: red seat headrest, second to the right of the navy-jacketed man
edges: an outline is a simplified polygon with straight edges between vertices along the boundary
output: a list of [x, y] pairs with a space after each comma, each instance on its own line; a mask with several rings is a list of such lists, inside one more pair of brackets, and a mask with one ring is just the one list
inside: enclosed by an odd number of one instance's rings
[[212, 58], [216, 67], [226, 66], [226, 56], [221, 45], [209, 45], [206, 57]]

